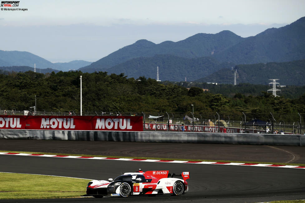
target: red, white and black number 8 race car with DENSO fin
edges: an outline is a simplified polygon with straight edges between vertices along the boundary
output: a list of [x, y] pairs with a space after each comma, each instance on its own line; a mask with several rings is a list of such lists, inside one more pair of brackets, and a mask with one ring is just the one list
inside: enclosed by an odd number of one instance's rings
[[[174, 177], [182, 177], [174, 178]], [[87, 185], [87, 195], [101, 198], [103, 196], [128, 197], [133, 195], [161, 195], [170, 194], [180, 196], [188, 191], [187, 179], [190, 172], [179, 175], [169, 171], [146, 171], [139, 169], [137, 172], [128, 172], [119, 177], [105, 180], [92, 180]]]

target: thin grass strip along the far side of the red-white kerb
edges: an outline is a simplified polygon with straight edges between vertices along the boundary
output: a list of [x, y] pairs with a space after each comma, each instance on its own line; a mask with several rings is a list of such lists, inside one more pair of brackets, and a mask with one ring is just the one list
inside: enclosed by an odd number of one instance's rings
[[30, 154], [51, 154], [51, 155], [65, 155], [65, 156], [84, 156], [84, 157], [109, 157], [109, 158], [137, 158], [137, 159], [157, 159], [157, 160], [177, 160], [177, 161], [205, 161], [205, 162], [233, 162], [233, 163], [263, 163], [263, 164], [277, 164], [277, 165], [291, 165], [291, 166], [305, 166], [301, 163], [275, 163], [275, 162], [256, 162], [256, 161], [232, 161], [232, 160], [204, 160], [204, 159], [181, 159], [181, 158], [156, 158], [156, 157], [121, 157], [108, 155], [90, 155], [90, 154], [65, 154], [65, 153], [45, 153], [45, 152], [20, 152], [20, 151], [1, 151], [10, 153], [30, 153]]

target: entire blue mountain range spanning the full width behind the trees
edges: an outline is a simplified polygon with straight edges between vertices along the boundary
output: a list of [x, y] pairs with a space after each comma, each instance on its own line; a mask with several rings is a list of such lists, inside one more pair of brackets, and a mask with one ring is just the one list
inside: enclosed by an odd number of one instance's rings
[[185, 40], [160, 44], [138, 40], [93, 63], [51, 63], [29, 52], [0, 51], [0, 66], [5, 66], [6, 70], [9, 70], [8, 66], [33, 67], [36, 63], [36, 68], [63, 71], [78, 68], [88, 73], [106, 71], [124, 73], [128, 78], [156, 78], [158, 67], [160, 80], [184, 81], [187, 78], [187, 81], [217, 83], [232, 83], [232, 75], [237, 69], [238, 81], [265, 84], [268, 79], [286, 77], [286, 84], [301, 85], [304, 81], [303, 73], [300, 73], [304, 72], [303, 59], [305, 17], [246, 38], [231, 31], [221, 31], [198, 33]]

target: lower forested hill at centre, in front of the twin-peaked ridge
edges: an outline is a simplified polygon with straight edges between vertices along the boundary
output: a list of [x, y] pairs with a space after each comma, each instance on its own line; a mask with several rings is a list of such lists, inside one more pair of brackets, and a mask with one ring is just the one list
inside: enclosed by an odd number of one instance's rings
[[211, 57], [182, 58], [173, 55], [155, 55], [153, 57], [140, 57], [118, 64], [107, 69], [109, 73], [124, 73], [128, 78], [145, 76], [157, 77], [157, 66], [159, 67], [159, 79], [170, 81], [193, 81], [208, 76], [221, 68], [234, 67], [232, 63], [222, 63]]

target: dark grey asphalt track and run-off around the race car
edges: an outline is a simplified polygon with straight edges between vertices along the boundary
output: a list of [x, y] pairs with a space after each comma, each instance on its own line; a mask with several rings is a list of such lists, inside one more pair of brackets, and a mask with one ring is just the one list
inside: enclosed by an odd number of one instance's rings
[[[161, 151], [156, 151], [156, 150]], [[305, 148], [263, 145], [129, 143], [62, 140], [3, 140], [0, 150], [304, 163]], [[190, 171], [189, 192], [179, 196], [0, 200], [0, 202], [268, 202], [305, 199], [305, 169], [186, 163], [150, 163], [53, 157], [0, 155], [0, 171], [79, 177], [114, 178], [121, 172]], [[84, 186], [85, 194], [85, 186]], [[1, 194], [0, 194], [1, 195]]]

